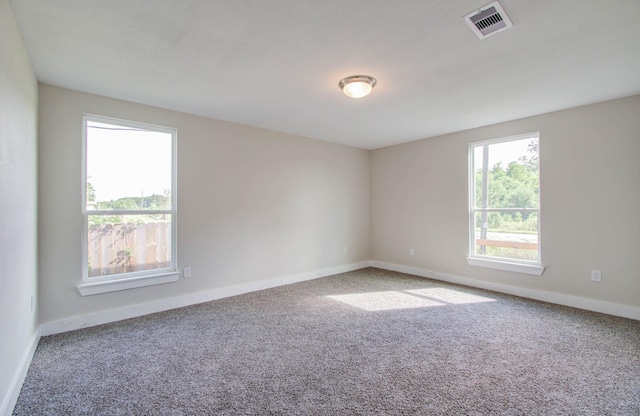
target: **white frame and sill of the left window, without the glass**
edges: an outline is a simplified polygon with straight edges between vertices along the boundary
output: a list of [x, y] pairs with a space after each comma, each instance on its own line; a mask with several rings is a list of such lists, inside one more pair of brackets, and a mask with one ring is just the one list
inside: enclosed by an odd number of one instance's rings
[[[87, 210], [87, 123], [88, 122], [113, 124], [122, 127], [131, 127], [171, 134], [171, 209], [170, 210]], [[150, 285], [175, 282], [180, 278], [177, 266], [177, 137], [178, 132], [174, 128], [158, 126], [154, 124], [140, 123], [136, 121], [122, 120], [112, 117], [104, 117], [93, 114], [84, 114], [82, 117], [82, 282], [78, 285], [78, 291], [82, 296], [99, 293], [113, 292], [117, 290], [133, 289]], [[89, 215], [145, 215], [165, 213], [171, 215], [171, 264], [162, 269], [145, 270], [130, 273], [121, 273], [109, 276], [89, 277], [88, 266], [88, 227]]]

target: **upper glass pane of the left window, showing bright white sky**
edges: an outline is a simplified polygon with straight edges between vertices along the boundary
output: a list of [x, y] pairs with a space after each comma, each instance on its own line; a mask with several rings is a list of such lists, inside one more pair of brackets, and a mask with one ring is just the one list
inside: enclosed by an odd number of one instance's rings
[[87, 121], [87, 210], [171, 209], [170, 133]]

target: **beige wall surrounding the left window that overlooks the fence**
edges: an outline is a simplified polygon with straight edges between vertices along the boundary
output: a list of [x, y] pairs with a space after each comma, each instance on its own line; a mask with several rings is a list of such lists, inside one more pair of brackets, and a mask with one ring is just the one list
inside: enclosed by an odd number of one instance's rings
[[[190, 279], [79, 295], [83, 113], [178, 129], [178, 262]], [[43, 84], [39, 150], [43, 323], [369, 259], [365, 150]]]

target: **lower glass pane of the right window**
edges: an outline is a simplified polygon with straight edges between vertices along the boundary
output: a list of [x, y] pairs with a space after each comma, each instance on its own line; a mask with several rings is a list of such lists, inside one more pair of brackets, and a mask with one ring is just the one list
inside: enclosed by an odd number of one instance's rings
[[538, 212], [476, 212], [475, 254], [538, 260]]

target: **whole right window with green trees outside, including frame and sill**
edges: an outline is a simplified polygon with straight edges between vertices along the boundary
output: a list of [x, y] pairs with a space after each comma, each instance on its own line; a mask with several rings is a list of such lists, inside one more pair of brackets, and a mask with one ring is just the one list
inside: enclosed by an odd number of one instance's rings
[[539, 134], [469, 145], [469, 264], [540, 275]]

